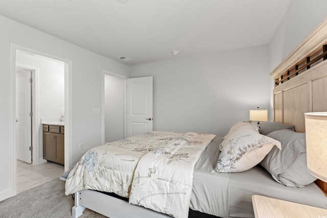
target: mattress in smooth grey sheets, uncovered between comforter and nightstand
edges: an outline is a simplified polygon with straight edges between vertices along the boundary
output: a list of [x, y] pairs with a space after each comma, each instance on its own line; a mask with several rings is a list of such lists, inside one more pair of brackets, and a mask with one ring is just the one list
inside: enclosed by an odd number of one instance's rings
[[218, 161], [222, 140], [216, 137], [195, 165], [191, 209], [220, 217], [254, 217], [252, 195], [327, 209], [327, 198], [316, 184], [287, 187], [259, 165], [241, 173], [210, 173]]

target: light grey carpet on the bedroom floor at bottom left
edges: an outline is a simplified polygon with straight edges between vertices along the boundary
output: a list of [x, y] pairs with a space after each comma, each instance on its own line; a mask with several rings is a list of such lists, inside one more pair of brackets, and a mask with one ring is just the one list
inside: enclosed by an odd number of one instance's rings
[[[74, 200], [65, 196], [65, 182], [54, 179], [18, 193], [0, 202], [0, 217], [4, 218], [68, 218], [72, 217]], [[85, 209], [81, 218], [103, 218], [99, 213]]]

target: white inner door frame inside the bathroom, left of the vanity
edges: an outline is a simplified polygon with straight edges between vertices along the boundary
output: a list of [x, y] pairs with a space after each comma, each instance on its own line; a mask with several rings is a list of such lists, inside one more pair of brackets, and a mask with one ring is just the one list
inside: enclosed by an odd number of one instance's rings
[[[40, 118], [39, 118], [39, 88], [38, 88], [38, 75], [39, 75], [39, 68], [36, 66], [31, 66], [31, 65], [27, 65], [27, 64], [21, 64], [21, 63], [16, 63], [16, 67], [20, 67], [20, 68], [24, 68], [24, 69], [28, 69], [32, 71], [32, 159], [33, 165], [39, 164], [41, 163], [41, 160], [39, 158], [39, 131], [36, 127], [38, 127], [40, 125]], [[15, 68], [16, 70], [16, 68]], [[15, 95], [16, 96], [16, 95]], [[45, 161], [44, 161], [45, 162]]]

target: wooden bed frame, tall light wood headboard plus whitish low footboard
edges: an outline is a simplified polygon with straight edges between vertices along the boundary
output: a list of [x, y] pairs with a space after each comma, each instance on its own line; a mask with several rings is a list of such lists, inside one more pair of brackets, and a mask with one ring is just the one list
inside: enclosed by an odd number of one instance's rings
[[[327, 44], [327, 19], [271, 72], [275, 79], [275, 122], [293, 124], [297, 132], [305, 132], [305, 112], [327, 111], [327, 61], [322, 61], [322, 58], [327, 59], [324, 55], [327, 46], [324, 44]], [[318, 56], [322, 58], [315, 60]], [[316, 184], [327, 193], [326, 183], [317, 180]], [[80, 216], [85, 208], [110, 218], [170, 217], [92, 190], [75, 193], [73, 217]]]

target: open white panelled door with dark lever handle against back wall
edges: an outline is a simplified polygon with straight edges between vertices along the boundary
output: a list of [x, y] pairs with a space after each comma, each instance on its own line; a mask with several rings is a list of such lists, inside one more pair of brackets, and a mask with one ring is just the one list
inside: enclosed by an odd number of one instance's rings
[[127, 79], [127, 137], [152, 131], [152, 77]]

